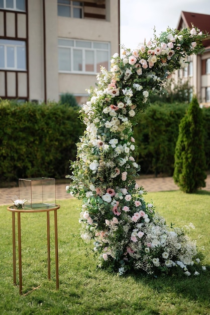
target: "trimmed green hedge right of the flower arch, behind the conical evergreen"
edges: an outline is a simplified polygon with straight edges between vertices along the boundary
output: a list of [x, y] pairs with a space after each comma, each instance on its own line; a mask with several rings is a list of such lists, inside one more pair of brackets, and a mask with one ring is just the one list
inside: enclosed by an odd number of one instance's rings
[[[187, 104], [155, 103], [137, 117], [134, 137], [138, 145], [137, 162], [142, 174], [172, 176], [178, 126]], [[204, 143], [207, 169], [210, 168], [210, 108], [203, 108]]]

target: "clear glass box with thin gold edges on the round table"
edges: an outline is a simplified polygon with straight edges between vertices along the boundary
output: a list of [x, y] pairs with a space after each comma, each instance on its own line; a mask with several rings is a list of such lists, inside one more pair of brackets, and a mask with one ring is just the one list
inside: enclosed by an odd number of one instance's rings
[[25, 209], [48, 209], [55, 206], [55, 179], [19, 178], [19, 198], [26, 200]]

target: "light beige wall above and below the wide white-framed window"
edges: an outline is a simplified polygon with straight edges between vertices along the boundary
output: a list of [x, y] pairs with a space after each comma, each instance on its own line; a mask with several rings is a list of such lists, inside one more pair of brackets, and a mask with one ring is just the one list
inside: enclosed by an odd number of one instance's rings
[[[113, 55], [119, 51], [118, 0], [112, 0], [111, 5], [108, 0], [107, 11], [110, 6], [108, 21], [58, 17], [58, 37], [110, 42]], [[96, 75], [59, 73], [59, 93], [87, 95], [85, 90], [94, 87], [95, 83]]]

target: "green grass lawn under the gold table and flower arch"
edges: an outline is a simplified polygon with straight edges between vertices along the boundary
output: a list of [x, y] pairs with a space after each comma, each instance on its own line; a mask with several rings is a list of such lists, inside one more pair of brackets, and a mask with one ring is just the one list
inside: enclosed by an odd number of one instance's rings
[[[51, 219], [51, 280], [47, 279], [46, 213], [21, 214], [23, 293], [13, 285], [12, 214], [0, 207], [0, 314], [210, 314], [210, 192], [180, 191], [149, 193], [156, 211], [167, 223], [192, 222], [189, 233], [203, 253], [206, 271], [200, 276], [142, 274], [119, 277], [97, 268], [92, 244], [79, 236], [80, 202], [57, 201], [59, 290], [56, 290], [53, 213]], [[17, 277], [18, 263], [17, 263]]]

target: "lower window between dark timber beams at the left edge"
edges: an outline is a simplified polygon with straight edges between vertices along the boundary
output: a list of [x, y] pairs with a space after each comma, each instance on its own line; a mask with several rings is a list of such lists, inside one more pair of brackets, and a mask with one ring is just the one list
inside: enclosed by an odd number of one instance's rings
[[0, 69], [26, 70], [26, 43], [0, 39]]

